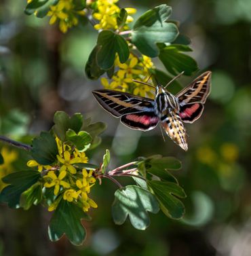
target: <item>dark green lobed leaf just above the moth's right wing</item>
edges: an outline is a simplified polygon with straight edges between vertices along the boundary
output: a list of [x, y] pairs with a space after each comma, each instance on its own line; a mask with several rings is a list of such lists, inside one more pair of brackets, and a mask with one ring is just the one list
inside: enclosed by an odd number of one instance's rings
[[178, 75], [184, 71], [184, 75], [191, 75], [197, 71], [197, 62], [187, 54], [182, 52], [191, 52], [187, 45], [168, 45], [163, 47], [159, 45], [159, 60], [172, 75]]

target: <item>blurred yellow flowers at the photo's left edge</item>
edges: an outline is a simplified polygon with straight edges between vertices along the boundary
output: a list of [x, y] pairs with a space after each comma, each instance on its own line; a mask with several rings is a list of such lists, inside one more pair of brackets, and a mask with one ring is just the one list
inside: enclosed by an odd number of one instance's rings
[[3, 183], [2, 178], [13, 171], [12, 163], [18, 158], [18, 153], [7, 149], [7, 147], [2, 147], [1, 155], [4, 162], [0, 165], [0, 191], [7, 186], [7, 184]]

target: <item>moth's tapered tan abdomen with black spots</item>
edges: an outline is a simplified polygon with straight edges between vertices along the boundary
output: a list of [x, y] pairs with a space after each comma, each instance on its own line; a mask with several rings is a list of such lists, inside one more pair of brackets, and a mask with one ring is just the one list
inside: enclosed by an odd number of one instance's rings
[[161, 126], [170, 136], [170, 139], [187, 151], [187, 134], [178, 111], [166, 113], [166, 118], [161, 117]]

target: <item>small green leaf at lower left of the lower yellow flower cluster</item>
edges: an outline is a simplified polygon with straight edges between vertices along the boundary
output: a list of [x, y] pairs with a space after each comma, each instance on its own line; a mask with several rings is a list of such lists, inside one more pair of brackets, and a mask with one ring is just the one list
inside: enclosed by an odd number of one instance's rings
[[42, 200], [42, 185], [37, 182], [24, 191], [20, 198], [20, 207], [24, 210], [31, 208], [33, 204], [37, 205]]

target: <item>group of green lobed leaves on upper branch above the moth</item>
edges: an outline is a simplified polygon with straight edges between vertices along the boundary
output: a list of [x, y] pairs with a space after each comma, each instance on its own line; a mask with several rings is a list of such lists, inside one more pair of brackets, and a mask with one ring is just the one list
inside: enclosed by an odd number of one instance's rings
[[[108, 77], [112, 77], [115, 57], [118, 56], [121, 63], [126, 62], [134, 47], [138, 54], [151, 58], [158, 57], [171, 75], [177, 75], [182, 71], [185, 71], [185, 75], [191, 75], [197, 71], [195, 60], [184, 54], [191, 51], [187, 46], [190, 41], [179, 34], [175, 22], [168, 22], [171, 14], [172, 7], [162, 4], [142, 14], [126, 37], [119, 33], [119, 29], [101, 31], [85, 65], [88, 78], [98, 79], [106, 72]], [[121, 9], [117, 18], [119, 27], [124, 24], [127, 16], [126, 10]], [[153, 74], [159, 80], [159, 72], [153, 71]]]

